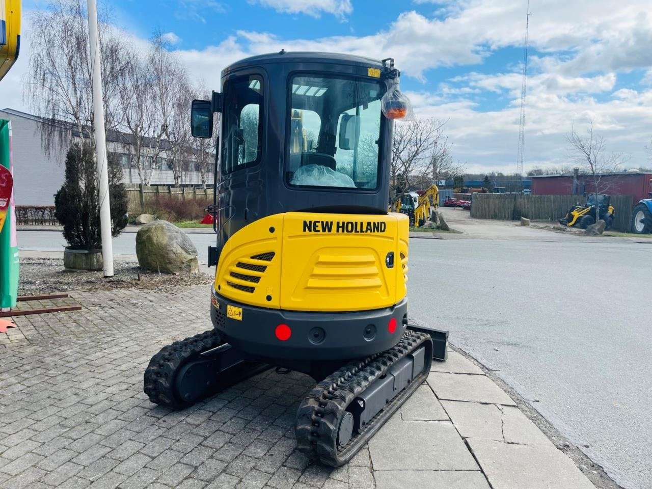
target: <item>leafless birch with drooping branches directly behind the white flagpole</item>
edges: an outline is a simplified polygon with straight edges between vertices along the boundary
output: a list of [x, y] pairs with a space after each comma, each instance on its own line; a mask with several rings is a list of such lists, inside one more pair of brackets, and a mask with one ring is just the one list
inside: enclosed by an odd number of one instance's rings
[[[115, 95], [123, 67], [119, 32], [100, 20], [102, 85], [107, 130], [117, 125]], [[23, 78], [23, 100], [46, 123], [40, 125], [46, 153], [67, 145], [70, 132], [93, 138], [93, 104], [88, 23], [82, 0], [51, 0], [30, 17], [29, 68]], [[63, 123], [63, 124], [62, 124]]]

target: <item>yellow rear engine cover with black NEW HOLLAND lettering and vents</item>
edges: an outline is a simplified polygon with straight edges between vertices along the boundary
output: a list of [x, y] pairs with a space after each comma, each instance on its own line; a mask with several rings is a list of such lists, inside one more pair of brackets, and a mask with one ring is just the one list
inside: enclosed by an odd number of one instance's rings
[[239, 303], [284, 310], [393, 306], [407, 293], [408, 234], [408, 216], [400, 213], [267, 216], [228, 239], [215, 289]]

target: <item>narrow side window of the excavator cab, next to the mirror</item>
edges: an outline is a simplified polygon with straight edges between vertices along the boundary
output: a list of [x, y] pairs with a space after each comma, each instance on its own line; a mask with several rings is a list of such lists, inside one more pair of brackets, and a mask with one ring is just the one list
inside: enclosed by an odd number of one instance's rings
[[263, 79], [233, 78], [224, 84], [222, 170], [224, 173], [257, 164], [261, 155]]

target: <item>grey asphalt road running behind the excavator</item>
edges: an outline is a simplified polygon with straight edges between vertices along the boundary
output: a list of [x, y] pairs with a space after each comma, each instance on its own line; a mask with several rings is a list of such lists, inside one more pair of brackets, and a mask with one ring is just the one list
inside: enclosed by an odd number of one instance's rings
[[[652, 488], [652, 240], [497, 222], [478, 222], [484, 239], [473, 239], [464, 227], [473, 221], [459, 226], [466, 235], [410, 240], [411, 316], [449, 329], [623, 487]], [[190, 238], [205, 263], [214, 235]], [[134, 255], [135, 239], [120, 235], [114, 253]], [[18, 240], [29, 250], [65, 245], [54, 232]]]

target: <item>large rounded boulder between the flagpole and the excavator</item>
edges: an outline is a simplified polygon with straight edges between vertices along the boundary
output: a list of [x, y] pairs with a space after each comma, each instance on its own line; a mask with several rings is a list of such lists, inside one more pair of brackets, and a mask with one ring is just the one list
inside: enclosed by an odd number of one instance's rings
[[197, 248], [186, 233], [168, 221], [145, 224], [136, 234], [138, 265], [162, 273], [194, 273], [199, 270]]

